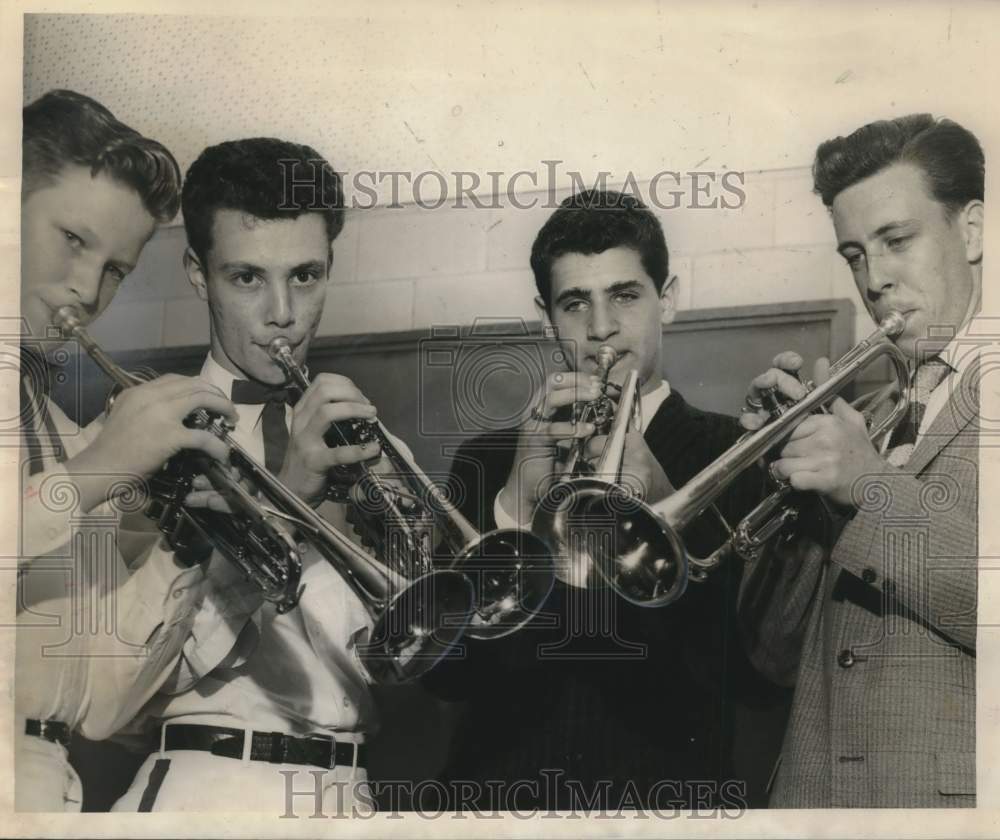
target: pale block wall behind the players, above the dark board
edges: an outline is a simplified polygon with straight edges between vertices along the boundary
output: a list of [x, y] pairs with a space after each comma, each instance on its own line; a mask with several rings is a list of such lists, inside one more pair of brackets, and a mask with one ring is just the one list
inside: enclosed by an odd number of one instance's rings
[[[644, 195], [645, 185], [640, 184]], [[657, 210], [682, 309], [848, 297], [870, 328], [805, 168], [746, 173], [736, 210]], [[690, 195], [690, 193], [688, 193]], [[348, 214], [321, 335], [391, 332], [477, 317], [537, 316], [531, 243], [551, 209], [376, 208]], [[562, 194], [558, 194], [561, 198]], [[519, 197], [528, 204], [530, 193]], [[730, 196], [731, 199], [731, 196]], [[704, 200], [702, 200], [704, 201]], [[664, 202], [665, 203], [665, 202]], [[111, 350], [203, 344], [205, 305], [184, 275], [184, 230], [160, 230], [94, 326]]]

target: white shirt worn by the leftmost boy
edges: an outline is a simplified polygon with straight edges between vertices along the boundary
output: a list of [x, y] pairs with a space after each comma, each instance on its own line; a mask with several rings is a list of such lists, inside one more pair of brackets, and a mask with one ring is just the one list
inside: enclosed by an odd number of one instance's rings
[[[18, 376], [16, 369], [3, 375]], [[17, 387], [16, 379], [4, 387]], [[88, 738], [106, 738], [176, 664], [204, 572], [175, 563], [157, 546], [155, 528], [123, 533], [122, 503], [78, 509], [79, 495], [55, 451], [62, 446], [68, 458], [82, 452], [100, 432], [100, 420], [80, 429], [48, 397], [30, 396], [44, 401], [49, 423], [41, 411], [31, 413], [43, 470], [29, 475], [23, 451], [19, 464], [19, 731], [25, 718], [53, 719]]]

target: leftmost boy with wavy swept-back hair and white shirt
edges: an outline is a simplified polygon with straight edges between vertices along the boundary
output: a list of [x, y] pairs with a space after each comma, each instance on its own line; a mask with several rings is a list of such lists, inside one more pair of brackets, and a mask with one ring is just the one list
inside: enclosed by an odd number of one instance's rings
[[183, 421], [197, 408], [234, 419], [232, 404], [197, 379], [163, 377], [80, 429], [47, 387], [57, 313], [86, 325], [107, 308], [157, 223], [177, 212], [179, 188], [171, 154], [94, 100], [52, 91], [24, 109], [22, 335], [7, 348], [20, 351], [22, 404], [19, 811], [80, 810], [70, 733], [106, 738], [135, 714], [176, 663], [205, 588], [200, 567], [169, 553], [123, 558], [118, 514], [180, 450], [225, 458], [221, 441]]

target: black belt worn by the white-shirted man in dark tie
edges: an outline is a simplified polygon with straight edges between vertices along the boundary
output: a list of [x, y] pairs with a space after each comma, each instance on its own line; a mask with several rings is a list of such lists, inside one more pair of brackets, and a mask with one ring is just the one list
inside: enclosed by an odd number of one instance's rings
[[[199, 724], [167, 724], [163, 736], [165, 750], [204, 750], [224, 758], [243, 758], [245, 731], [225, 726]], [[366, 766], [367, 750], [363, 744], [336, 742], [332, 738], [313, 736], [296, 738], [282, 732], [254, 732], [250, 744], [251, 761], [272, 764], [312, 764], [316, 767], [353, 767], [357, 748], [358, 767]]]

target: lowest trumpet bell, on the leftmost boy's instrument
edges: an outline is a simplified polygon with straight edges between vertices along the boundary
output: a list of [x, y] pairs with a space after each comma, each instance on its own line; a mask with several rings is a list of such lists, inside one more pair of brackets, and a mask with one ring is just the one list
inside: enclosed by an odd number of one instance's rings
[[383, 685], [412, 682], [430, 671], [469, 624], [475, 597], [460, 572], [430, 572], [399, 592], [381, 613], [361, 661]]

